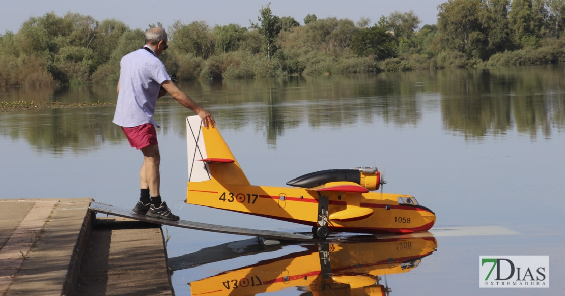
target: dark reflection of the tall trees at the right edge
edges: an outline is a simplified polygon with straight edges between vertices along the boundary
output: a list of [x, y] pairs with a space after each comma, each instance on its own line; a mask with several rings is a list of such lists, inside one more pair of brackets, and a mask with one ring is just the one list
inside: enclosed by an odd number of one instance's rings
[[444, 128], [481, 138], [514, 128], [532, 139], [563, 127], [564, 97], [559, 67], [445, 71], [439, 77]]

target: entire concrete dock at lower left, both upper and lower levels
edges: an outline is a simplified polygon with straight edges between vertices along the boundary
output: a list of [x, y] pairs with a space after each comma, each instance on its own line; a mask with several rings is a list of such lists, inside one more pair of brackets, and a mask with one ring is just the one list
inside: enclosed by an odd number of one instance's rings
[[0, 295], [173, 295], [160, 225], [90, 198], [1, 199]]

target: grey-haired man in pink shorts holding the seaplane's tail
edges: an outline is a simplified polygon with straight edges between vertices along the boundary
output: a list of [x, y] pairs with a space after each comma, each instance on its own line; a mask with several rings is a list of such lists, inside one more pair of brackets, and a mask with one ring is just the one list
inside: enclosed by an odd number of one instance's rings
[[182, 92], [172, 82], [159, 55], [167, 50], [167, 32], [152, 28], [145, 34], [142, 49], [125, 55], [120, 61], [118, 103], [114, 123], [120, 125], [132, 147], [144, 155], [141, 166], [141, 198], [133, 211], [137, 214], [177, 221], [159, 192], [160, 154], [153, 119], [157, 99], [167, 92], [182, 106], [196, 112], [206, 128], [214, 127], [215, 121], [198, 103]]

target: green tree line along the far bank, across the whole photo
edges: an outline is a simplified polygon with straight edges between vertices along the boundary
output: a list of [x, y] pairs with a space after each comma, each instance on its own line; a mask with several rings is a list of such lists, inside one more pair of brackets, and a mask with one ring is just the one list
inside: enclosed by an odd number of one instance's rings
[[[449, 0], [437, 24], [413, 11], [357, 22], [309, 14], [303, 24], [261, 7], [249, 27], [185, 24], [167, 32], [161, 59], [177, 80], [332, 75], [559, 63], [565, 0]], [[151, 24], [148, 28], [161, 24]], [[145, 30], [115, 19], [48, 12], [0, 35], [0, 87], [111, 83]]]

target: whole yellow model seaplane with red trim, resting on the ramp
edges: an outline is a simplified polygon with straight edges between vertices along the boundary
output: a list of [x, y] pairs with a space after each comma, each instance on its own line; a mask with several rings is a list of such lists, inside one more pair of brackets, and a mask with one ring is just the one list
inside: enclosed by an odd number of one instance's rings
[[189, 181], [186, 203], [312, 226], [332, 232], [424, 232], [436, 215], [410, 195], [371, 192], [385, 184], [376, 168], [329, 169], [287, 182], [292, 187], [251, 185], [217, 127], [186, 119]]

